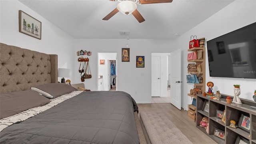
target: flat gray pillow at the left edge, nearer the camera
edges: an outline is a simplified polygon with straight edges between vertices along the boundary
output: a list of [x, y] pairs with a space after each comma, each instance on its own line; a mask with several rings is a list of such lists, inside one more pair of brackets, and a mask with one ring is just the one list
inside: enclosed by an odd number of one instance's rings
[[0, 94], [0, 119], [30, 108], [48, 104], [50, 100], [32, 90]]

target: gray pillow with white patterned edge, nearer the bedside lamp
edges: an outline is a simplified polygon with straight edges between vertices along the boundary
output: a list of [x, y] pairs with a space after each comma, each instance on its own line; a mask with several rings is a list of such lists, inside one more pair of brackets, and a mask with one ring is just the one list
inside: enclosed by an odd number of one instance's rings
[[42, 94], [47, 98], [56, 98], [58, 96], [62, 96], [63, 94], [68, 94], [77, 90], [76, 88], [63, 83], [42, 84], [31, 87], [30, 89]]

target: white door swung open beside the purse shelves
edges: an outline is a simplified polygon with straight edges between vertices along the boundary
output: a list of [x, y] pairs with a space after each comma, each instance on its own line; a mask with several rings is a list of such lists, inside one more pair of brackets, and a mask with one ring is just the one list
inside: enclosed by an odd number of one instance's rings
[[181, 110], [181, 52], [171, 52], [171, 104]]

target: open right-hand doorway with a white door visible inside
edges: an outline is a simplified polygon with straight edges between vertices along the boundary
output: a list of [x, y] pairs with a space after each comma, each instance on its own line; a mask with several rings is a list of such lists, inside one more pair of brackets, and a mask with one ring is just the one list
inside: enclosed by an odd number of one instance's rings
[[152, 103], [170, 103], [170, 53], [151, 54]]

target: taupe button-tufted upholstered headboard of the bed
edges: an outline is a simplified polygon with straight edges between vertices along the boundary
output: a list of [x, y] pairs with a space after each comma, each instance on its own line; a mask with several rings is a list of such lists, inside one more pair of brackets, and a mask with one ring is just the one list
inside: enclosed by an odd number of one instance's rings
[[0, 43], [0, 93], [58, 82], [58, 56]]

